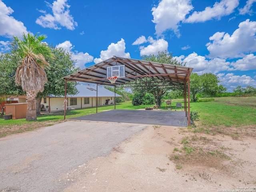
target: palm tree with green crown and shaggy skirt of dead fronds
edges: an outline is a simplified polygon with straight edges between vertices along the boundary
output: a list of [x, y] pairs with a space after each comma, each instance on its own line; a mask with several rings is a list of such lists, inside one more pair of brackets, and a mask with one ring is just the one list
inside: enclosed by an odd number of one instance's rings
[[22, 58], [16, 70], [15, 82], [26, 92], [26, 120], [37, 120], [36, 94], [44, 90], [44, 83], [48, 81], [44, 69], [50, 65], [45, 57], [53, 57], [53, 53], [51, 48], [42, 42], [46, 38], [45, 35], [22, 33], [22, 36], [24, 40], [14, 37], [14, 49]]

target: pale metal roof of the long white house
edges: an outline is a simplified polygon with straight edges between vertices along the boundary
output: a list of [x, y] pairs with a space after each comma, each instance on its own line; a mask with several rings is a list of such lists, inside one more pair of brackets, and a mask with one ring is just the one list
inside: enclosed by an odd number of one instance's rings
[[[67, 95], [67, 97], [96, 97], [96, 86], [86, 86], [86, 85], [77, 85], [78, 94], [76, 95]], [[49, 97], [55, 97], [54, 95], [48, 95]], [[114, 97], [115, 93], [98, 86], [98, 97]], [[64, 96], [60, 96], [64, 97]], [[119, 94], [116, 94], [116, 97], [122, 97]]]

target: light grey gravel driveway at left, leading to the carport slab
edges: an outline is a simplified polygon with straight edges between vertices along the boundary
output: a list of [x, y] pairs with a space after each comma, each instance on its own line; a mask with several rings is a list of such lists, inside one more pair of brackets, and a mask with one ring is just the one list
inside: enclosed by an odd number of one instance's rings
[[0, 192], [62, 191], [66, 174], [113, 147], [143, 124], [66, 121], [0, 138]]

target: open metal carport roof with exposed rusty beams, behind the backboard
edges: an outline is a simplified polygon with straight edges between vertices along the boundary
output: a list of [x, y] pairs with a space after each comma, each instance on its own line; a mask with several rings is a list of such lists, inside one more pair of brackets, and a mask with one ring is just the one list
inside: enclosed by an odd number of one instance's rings
[[[111, 84], [106, 78], [107, 67], [116, 65], [125, 65], [125, 78], [118, 78], [115, 84]], [[63, 79], [110, 86], [125, 84], [143, 77], [155, 77], [163, 81], [184, 83], [188, 81], [192, 70], [193, 68], [184, 66], [113, 56]]]

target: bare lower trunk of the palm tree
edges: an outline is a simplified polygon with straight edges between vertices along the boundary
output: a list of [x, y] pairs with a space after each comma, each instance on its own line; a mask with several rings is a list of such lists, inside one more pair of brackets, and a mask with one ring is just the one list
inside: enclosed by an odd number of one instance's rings
[[28, 102], [28, 108], [27, 108], [27, 115], [26, 120], [27, 121], [36, 121], [36, 93], [34, 92], [26, 92], [27, 94], [27, 102]]

